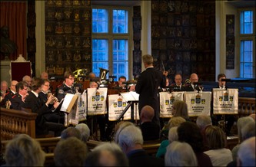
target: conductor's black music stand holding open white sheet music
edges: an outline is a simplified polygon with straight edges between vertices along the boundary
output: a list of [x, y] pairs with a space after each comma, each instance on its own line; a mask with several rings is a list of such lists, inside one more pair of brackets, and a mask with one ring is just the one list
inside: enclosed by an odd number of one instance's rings
[[137, 123], [137, 105], [138, 105], [138, 93], [131, 91], [131, 92], [125, 92], [120, 93], [121, 97], [127, 101], [128, 105], [125, 107], [125, 110], [118, 116], [117, 122], [121, 120], [121, 118], [124, 117], [125, 113], [127, 112], [128, 108], [131, 106], [131, 104], [135, 103], [135, 118], [134, 118], [134, 110], [131, 110], [131, 120], [135, 120], [135, 123]]

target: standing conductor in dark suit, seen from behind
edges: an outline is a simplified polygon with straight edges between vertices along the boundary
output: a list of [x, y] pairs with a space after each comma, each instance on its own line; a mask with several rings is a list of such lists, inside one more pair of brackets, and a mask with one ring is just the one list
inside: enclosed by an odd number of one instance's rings
[[142, 61], [146, 70], [141, 73], [135, 86], [135, 91], [139, 94], [138, 110], [141, 113], [143, 106], [151, 106], [155, 110], [152, 122], [158, 123], [160, 127], [158, 87], [165, 87], [165, 77], [168, 75], [168, 72], [164, 71], [161, 73], [161, 71], [155, 69], [153, 57], [149, 54], [142, 56]]

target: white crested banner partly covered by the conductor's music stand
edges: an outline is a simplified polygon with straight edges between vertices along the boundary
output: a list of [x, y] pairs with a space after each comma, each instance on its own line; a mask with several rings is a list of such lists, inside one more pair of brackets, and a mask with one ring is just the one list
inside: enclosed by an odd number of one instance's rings
[[[118, 94], [108, 95], [108, 120], [117, 120], [127, 105], [127, 101]], [[126, 111], [124, 120], [131, 120], [131, 107]]]

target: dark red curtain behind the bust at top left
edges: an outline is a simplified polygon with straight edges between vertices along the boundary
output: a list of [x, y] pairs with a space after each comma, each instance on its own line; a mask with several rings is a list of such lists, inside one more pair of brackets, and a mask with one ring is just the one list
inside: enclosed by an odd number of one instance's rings
[[[26, 26], [26, 2], [0, 2], [0, 26], [8, 26], [9, 38], [17, 44], [18, 49], [14, 54], [9, 56], [11, 61], [15, 61], [18, 54], [22, 54], [27, 59], [26, 51], [26, 38], [27, 38], [27, 26]], [[4, 56], [1, 55], [1, 60], [4, 60]]]

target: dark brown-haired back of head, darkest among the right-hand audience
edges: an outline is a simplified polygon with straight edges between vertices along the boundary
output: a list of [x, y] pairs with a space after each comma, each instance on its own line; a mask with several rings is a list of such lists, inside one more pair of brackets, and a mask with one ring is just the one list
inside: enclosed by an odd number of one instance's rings
[[181, 123], [178, 126], [178, 140], [188, 142], [194, 152], [203, 152], [204, 142], [201, 130], [197, 124], [190, 121]]

